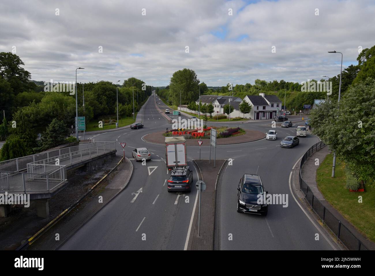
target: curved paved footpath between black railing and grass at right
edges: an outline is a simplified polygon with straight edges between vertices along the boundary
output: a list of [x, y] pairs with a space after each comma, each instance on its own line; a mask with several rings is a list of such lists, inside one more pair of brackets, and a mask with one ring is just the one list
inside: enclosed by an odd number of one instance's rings
[[[364, 237], [357, 229], [351, 225], [348, 220], [346, 220], [332, 205], [324, 198], [321, 194], [320, 190], [318, 189], [317, 182], [316, 182], [316, 174], [317, 169], [319, 166], [315, 165], [315, 158], [319, 159], [319, 162], [323, 162], [324, 158], [326, 158], [327, 154], [331, 151], [329, 150], [328, 146], [321, 148], [318, 151], [315, 151], [305, 162], [302, 166], [301, 175], [303, 180], [305, 180], [306, 184], [308, 184], [309, 188], [314, 193], [314, 196], [319, 199], [319, 201], [326, 207], [338, 220], [341, 221], [353, 234], [354, 236], [359, 239], [363, 245], [365, 245], [369, 250], [375, 250], [375, 243], [369, 241]], [[299, 166], [299, 164], [298, 164]]]

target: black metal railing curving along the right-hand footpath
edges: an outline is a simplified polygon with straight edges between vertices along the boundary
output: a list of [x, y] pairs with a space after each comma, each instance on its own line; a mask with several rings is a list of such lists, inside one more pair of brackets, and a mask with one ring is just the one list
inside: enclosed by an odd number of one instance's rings
[[309, 202], [312, 210], [320, 217], [322, 222], [327, 225], [327, 227], [336, 235], [336, 237], [342, 242], [342, 244], [349, 250], [368, 250], [356, 236], [338, 220], [326, 207], [314, 196], [308, 184], [303, 180], [301, 175], [301, 169], [303, 164], [306, 162], [309, 156], [317, 150], [320, 150], [324, 147], [324, 142], [318, 142], [309, 148], [308, 151], [303, 155], [300, 162], [300, 190], [305, 195], [305, 199]]

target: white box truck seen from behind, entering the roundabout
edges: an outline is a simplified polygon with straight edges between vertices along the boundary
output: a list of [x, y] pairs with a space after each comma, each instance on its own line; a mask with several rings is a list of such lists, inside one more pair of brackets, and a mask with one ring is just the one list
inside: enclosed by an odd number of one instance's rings
[[165, 137], [165, 163], [169, 170], [187, 166], [186, 140], [183, 136]]

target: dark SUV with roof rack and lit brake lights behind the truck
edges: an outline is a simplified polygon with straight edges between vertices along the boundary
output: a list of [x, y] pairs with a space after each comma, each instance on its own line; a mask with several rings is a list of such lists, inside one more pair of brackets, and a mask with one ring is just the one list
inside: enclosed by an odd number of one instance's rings
[[189, 167], [175, 167], [171, 171], [171, 177], [168, 179], [168, 192], [172, 191], [191, 191], [193, 182], [193, 171]]

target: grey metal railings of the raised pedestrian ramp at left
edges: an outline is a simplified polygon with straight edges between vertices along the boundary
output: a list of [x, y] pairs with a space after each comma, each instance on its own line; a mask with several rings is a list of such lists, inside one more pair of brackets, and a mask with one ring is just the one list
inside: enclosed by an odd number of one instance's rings
[[70, 165], [115, 149], [115, 142], [89, 142], [0, 162], [0, 193], [50, 191], [66, 181]]

